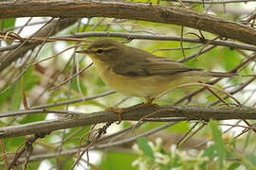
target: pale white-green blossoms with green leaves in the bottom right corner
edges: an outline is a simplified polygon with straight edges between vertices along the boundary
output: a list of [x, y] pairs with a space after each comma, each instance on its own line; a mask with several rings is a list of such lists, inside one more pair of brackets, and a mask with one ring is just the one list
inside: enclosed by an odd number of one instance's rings
[[[210, 121], [213, 142], [209, 142], [204, 150], [180, 149], [176, 144], [171, 144], [164, 148], [160, 138], [155, 139], [155, 143], [146, 138], [138, 138], [133, 149], [137, 152], [138, 158], [133, 162], [139, 170], [183, 170], [183, 169], [255, 169], [255, 156], [251, 153], [243, 157], [235, 151], [236, 140], [225, 145], [222, 139], [221, 130], [217, 123]], [[150, 153], [150, 154], [149, 154]], [[241, 159], [241, 161], [236, 160]]]

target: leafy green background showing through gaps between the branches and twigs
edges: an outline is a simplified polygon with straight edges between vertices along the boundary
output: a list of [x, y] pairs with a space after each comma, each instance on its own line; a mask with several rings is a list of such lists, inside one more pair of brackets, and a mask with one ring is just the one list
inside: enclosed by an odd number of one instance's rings
[[[156, 1], [153, 3], [156, 3]], [[167, 2], [160, 2], [160, 4], [168, 5]], [[249, 12], [237, 16], [235, 13], [229, 11], [228, 8], [248, 8], [250, 6], [254, 6], [255, 8], [255, 3], [227, 4], [227, 7], [217, 5], [212, 5], [212, 7], [203, 5], [193, 6], [192, 4], [186, 4], [186, 6], [200, 12], [205, 12], [206, 9], [210, 8], [210, 12], [216, 16], [239, 22], [245, 19], [249, 15]], [[214, 8], [220, 9], [221, 12]], [[225, 10], [225, 8], [227, 10]], [[21, 37], [27, 37], [32, 31], [43, 26], [49, 18], [35, 17], [26, 26], [25, 23], [27, 20], [28, 18], [2, 20], [1, 30], [6, 32], [13, 31]], [[42, 24], [37, 24], [36, 22], [42, 22]], [[34, 24], [34, 26], [28, 26], [32, 23], [36, 24]], [[20, 33], [19, 30], [21, 30]], [[73, 32], [92, 31], [180, 36], [181, 27], [142, 21], [118, 20], [113, 18], [84, 18], [55, 36], [70, 35]], [[184, 27], [184, 36], [195, 38], [192, 33], [198, 35], [198, 30]], [[203, 35], [207, 39], [215, 38], [215, 36], [210, 33], [203, 32]], [[86, 40], [96, 39], [98, 38], [86, 38]], [[126, 41], [121, 38], [113, 39]], [[1, 46], [7, 46], [12, 43], [15, 42], [2, 39]], [[36, 61], [55, 55], [75, 43], [80, 42], [47, 42], [40, 50]], [[154, 51], [153, 53], [155, 55], [167, 57], [169, 59], [178, 60], [184, 58], [182, 51], [180, 50], [180, 42], [135, 39], [126, 44], [136, 46], [137, 48], [148, 52]], [[197, 53], [202, 47], [205, 48], [209, 46], [203, 44], [201, 46], [193, 47], [194, 45], [198, 45], [198, 43], [183, 42], [184, 52], [187, 57]], [[187, 50], [186, 47], [192, 47], [192, 49]], [[72, 78], [72, 80], [60, 86], [60, 88], [52, 89], [53, 87], [60, 85], [66, 78], [74, 75], [76, 69], [81, 70], [91, 63], [91, 60], [86, 56], [75, 55], [74, 49], [68, 50], [53, 59], [48, 59], [44, 62], [29, 66], [23, 76], [22, 83], [22, 79], [19, 75], [24, 71], [28, 61], [31, 60], [31, 57], [36, 55], [37, 50], [39, 50], [39, 48], [27, 51], [25, 58], [18, 59], [1, 73], [1, 112], [6, 112], [8, 110], [24, 110], [22, 84], [30, 107], [57, 103], [81, 98], [83, 96], [92, 96], [111, 90], [101, 81], [101, 78], [98, 76], [97, 70], [94, 67], [91, 67], [82, 72], [81, 75]], [[5, 53], [2, 53], [2, 55], [4, 54]], [[225, 46], [216, 46], [207, 53], [198, 55], [196, 58], [189, 59], [183, 63], [192, 67], [204, 68], [206, 70], [227, 72], [240, 64], [244, 59], [247, 59], [247, 55], [250, 54], [251, 51], [243, 51], [242, 53], [241, 50], [231, 49]], [[26, 61], [26, 59], [28, 61]], [[246, 67], [240, 70], [239, 74], [253, 75], [254, 64], [254, 62], [249, 63]], [[216, 86], [230, 92], [241, 87], [249, 78], [250, 77], [236, 77], [222, 79]], [[155, 101], [155, 103], [158, 105], [172, 105], [178, 99], [199, 88], [200, 87], [175, 89]], [[254, 93], [255, 82], [251, 82], [247, 88], [240, 90], [238, 93], [234, 93], [234, 96], [245, 106], [254, 107]], [[218, 94], [224, 96], [223, 93]], [[217, 98], [211, 93], [203, 92], [179, 103], [178, 105], [205, 106], [216, 100]], [[227, 99], [227, 101], [233, 103], [232, 100]], [[108, 107], [117, 104], [119, 104], [119, 107], [130, 107], [140, 102], [143, 102], [143, 99], [135, 97], [127, 98], [127, 96], [120, 93], [115, 93], [88, 100], [86, 102], [57, 106], [50, 109], [95, 112], [98, 110], [105, 110]], [[222, 106], [223, 104], [219, 103], [219, 105]], [[52, 113], [13, 116], [0, 119], [0, 126], [7, 127], [21, 125], [60, 118], [61, 116], [62, 115]], [[250, 123], [253, 124], [254, 121], [250, 121]], [[125, 127], [134, 126], [135, 124], [135, 122], [122, 122], [120, 125], [112, 125], [107, 129], [107, 134], [105, 135], [115, 134], [119, 130], [124, 129]], [[224, 124], [227, 125], [223, 126]], [[149, 130], [164, 125], [166, 125], [166, 123], [145, 123], [137, 129], [129, 130], [121, 135], [116, 135], [115, 138], [104, 143], [111, 144], [122, 139], [137, 136], [137, 134], [143, 134]], [[194, 125], [195, 127], [193, 127]], [[241, 123], [241, 121], [237, 123], [237, 121], [215, 122], [212, 120], [210, 120], [210, 123], [192, 121], [180, 122], [171, 127], [166, 127], [150, 136], [137, 137], [137, 142], [130, 142], [128, 144], [123, 143], [105, 147], [104, 149], [92, 150], [89, 152], [89, 158], [92, 164], [90, 166], [86, 165], [87, 158], [85, 154], [82, 157], [82, 161], [75, 167], [75, 169], [256, 169], [254, 132], [251, 129], [247, 130], [247, 128], [239, 126], [245, 126], [245, 124]], [[97, 125], [97, 127], [102, 127], [102, 125]], [[182, 136], [191, 128], [192, 132], [189, 133], [192, 135], [191, 138], [187, 139], [187, 141], [183, 140], [184, 143], [180, 143]], [[49, 135], [46, 135], [45, 138], [38, 139], [35, 144], [33, 144], [31, 156], [47, 156], [49, 153], [76, 148], [80, 143], [86, 144], [84, 134], [90, 129], [91, 127], [75, 127], [53, 131]], [[5, 139], [3, 140], [4, 147], [2, 145], [1, 148], [2, 150], [5, 148], [9, 158], [11, 158], [11, 156], [13, 157], [13, 154], [18, 151], [18, 148], [24, 144], [26, 138], [27, 136]], [[177, 144], [180, 144], [178, 145], [178, 148]], [[74, 164], [77, 157], [77, 154], [72, 154], [29, 161], [27, 169], [69, 169], [72, 164]], [[1, 166], [4, 168], [3, 154], [1, 159]], [[23, 165], [20, 166], [22, 167]]]

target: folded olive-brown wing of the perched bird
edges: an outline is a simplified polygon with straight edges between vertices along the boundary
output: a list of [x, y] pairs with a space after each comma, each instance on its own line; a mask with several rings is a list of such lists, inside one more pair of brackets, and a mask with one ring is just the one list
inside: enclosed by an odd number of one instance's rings
[[113, 71], [122, 76], [175, 75], [198, 70], [202, 69], [188, 67], [174, 60], [161, 57], [138, 59], [136, 61], [122, 60], [121, 63], [113, 67]]

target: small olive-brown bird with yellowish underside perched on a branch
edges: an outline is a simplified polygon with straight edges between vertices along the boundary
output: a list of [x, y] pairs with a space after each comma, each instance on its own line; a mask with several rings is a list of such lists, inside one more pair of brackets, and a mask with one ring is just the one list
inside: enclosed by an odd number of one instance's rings
[[188, 67], [110, 39], [96, 40], [87, 49], [76, 52], [93, 60], [107, 86], [129, 96], [144, 97], [147, 105], [151, 105], [159, 94], [178, 85], [198, 82], [206, 77], [234, 76]]

